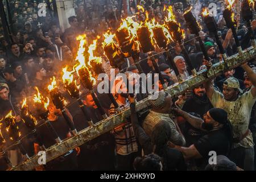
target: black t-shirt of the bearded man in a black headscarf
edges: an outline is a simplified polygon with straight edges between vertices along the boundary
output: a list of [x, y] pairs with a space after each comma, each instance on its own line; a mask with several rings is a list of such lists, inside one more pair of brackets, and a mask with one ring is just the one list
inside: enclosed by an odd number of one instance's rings
[[208, 161], [210, 151], [216, 151], [217, 155], [227, 155], [230, 140], [224, 129], [217, 129], [204, 135], [194, 145], [200, 155]]

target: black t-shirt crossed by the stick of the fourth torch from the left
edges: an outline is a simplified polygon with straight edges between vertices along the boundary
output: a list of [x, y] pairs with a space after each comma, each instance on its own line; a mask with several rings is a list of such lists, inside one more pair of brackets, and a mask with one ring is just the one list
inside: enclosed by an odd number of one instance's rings
[[[40, 121], [38, 123], [38, 126], [42, 125], [44, 121]], [[67, 138], [67, 134], [69, 133], [69, 127], [67, 122], [65, 122], [65, 119], [62, 115], [60, 115], [56, 121], [50, 122], [53, 128], [55, 129], [57, 135], [60, 137], [61, 140]], [[55, 138], [54, 135], [51, 133], [51, 131], [48, 129], [46, 124], [38, 127], [37, 132], [40, 134], [42, 138], [42, 142], [46, 148], [51, 147], [53, 144], [55, 144]]]

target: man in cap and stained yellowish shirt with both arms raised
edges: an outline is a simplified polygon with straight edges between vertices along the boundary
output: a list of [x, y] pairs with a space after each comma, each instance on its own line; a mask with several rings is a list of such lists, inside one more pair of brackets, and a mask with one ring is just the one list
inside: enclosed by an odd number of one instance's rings
[[[242, 169], [254, 169], [253, 136], [249, 130], [251, 109], [256, 101], [256, 74], [249, 67], [241, 66], [253, 86], [248, 92], [242, 93], [236, 78], [228, 78], [223, 85], [223, 94], [214, 90], [212, 82], [204, 84], [206, 93], [214, 107], [223, 108], [228, 113], [228, 119], [232, 123], [234, 132], [234, 145], [230, 159]], [[241, 94], [242, 93], [242, 94]]]

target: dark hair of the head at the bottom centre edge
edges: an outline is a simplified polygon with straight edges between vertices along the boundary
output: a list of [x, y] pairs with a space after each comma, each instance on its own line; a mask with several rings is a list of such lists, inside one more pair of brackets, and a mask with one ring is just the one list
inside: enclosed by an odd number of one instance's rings
[[161, 158], [156, 154], [150, 154], [134, 159], [133, 166], [136, 171], [160, 171]]

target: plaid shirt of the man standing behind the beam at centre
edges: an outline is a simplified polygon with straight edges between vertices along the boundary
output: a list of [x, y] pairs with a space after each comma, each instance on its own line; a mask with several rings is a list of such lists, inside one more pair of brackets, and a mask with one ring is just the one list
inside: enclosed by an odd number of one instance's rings
[[[129, 103], [126, 102], [125, 105], [119, 103], [117, 101], [120, 109], [125, 109], [129, 106]], [[109, 115], [117, 114], [117, 110], [114, 105], [110, 105]], [[136, 138], [133, 131], [133, 125], [131, 125], [130, 121], [126, 121], [127, 124], [123, 126], [122, 131], [116, 131], [117, 127], [115, 127], [110, 133], [114, 135], [115, 138], [115, 151], [119, 155], [129, 155], [133, 152], [138, 151], [138, 145], [136, 142]]]

